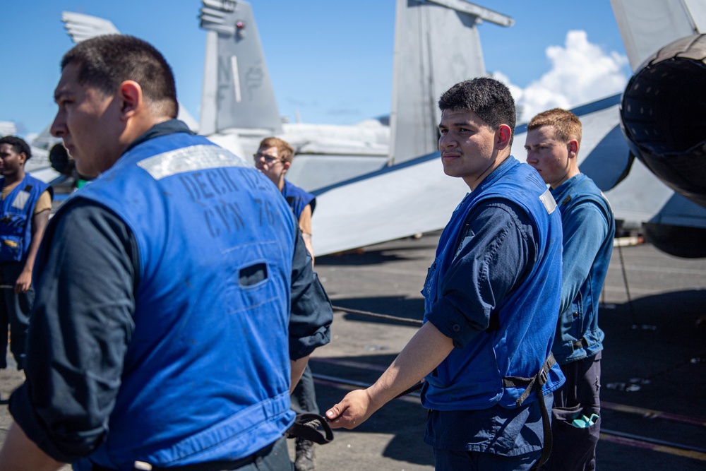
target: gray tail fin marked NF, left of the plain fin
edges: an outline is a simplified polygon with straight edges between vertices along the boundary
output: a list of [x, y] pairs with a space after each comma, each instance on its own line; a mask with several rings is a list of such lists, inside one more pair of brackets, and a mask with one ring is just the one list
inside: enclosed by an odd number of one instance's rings
[[207, 30], [201, 126], [204, 135], [224, 129], [282, 133], [260, 35], [250, 4], [203, 0]]

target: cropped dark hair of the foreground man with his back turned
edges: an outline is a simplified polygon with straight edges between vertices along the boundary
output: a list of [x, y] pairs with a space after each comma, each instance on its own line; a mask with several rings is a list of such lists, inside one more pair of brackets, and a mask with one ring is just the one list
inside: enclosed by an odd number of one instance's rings
[[145, 100], [172, 118], [179, 113], [172, 67], [152, 44], [128, 35], [103, 35], [76, 44], [61, 59], [61, 70], [78, 64], [78, 83], [115, 92], [124, 81], [140, 84]]

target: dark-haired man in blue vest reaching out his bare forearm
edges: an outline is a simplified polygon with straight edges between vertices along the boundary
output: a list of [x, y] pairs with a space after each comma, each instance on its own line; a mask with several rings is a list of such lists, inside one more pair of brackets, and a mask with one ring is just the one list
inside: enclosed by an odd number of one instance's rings
[[549, 452], [551, 356], [561, 290], [561, 220], [510, 155], [515, 102], [491, 78], [439, 100], [445, 174], [471, 192], [445, 227], [424, 285], [425, 323], [373, 386], [326, 413], [353, 428], [424, 378], [424, 441], [437, 470], [529, 470]]

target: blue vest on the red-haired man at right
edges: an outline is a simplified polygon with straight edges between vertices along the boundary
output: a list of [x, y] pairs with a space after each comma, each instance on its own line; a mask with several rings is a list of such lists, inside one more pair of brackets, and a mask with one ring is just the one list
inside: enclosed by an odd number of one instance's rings
[[611, 205], [592, 179], [578, 174], [565, 184], [558, 186], [558, 191], [551, 192], [561, 215], [577, 210], [580, 205], [597, 205], [608, 222], [608, 234], [595, 256], [588, 278], [571, 304], [559, 314], [554, 347], [551, 349], [559, 364], [592, 357], [603, 350], [605, 334], [598, 326], [598, 307], [616, 232]]

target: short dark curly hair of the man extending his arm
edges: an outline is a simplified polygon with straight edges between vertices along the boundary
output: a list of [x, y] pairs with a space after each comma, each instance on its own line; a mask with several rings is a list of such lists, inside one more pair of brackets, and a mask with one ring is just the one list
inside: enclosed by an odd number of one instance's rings
[[494, 78], [478, 77], [453, 85], [439, 98], [439, 109], [467, 109], [495, 130], [507, 124], [515, 137], [515, 100], [508, 87]]

